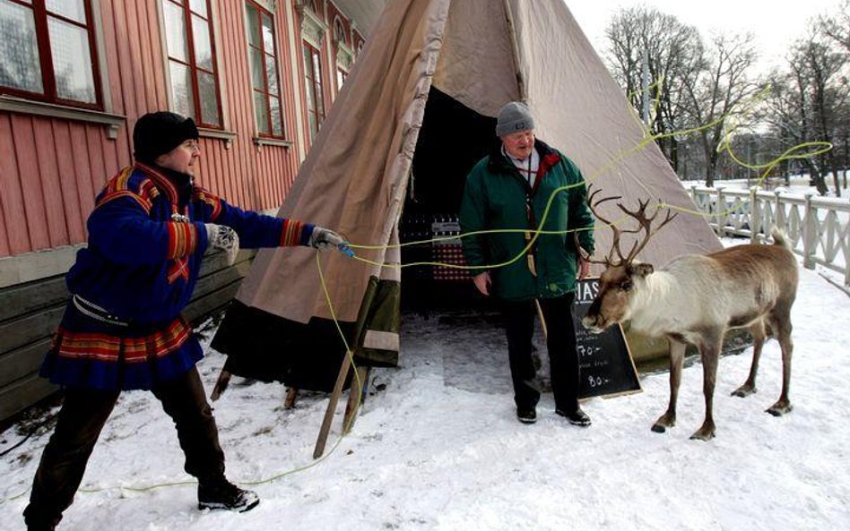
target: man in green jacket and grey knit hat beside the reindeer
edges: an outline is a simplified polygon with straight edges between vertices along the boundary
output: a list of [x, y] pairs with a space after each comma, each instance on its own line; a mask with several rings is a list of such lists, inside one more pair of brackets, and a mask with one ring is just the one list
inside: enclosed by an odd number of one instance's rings
[[524, 103], [502, 107], [496, 134], [501, 146], [470, 171], [460, 211], [464, 235], [493, 232], [464, 236], [464, 256], [478, 268], [475, 287], [499, 300], [505, 318], [517, 419], [525, 424], [537, 420], [540, 390], [532, 336], [539, 303], [548, 325], [555, 413], [589, 426], [590, 417], [578, 405], [571, 313], [576, 277], [584, 278], [589, 268], [576, 242], [594, 251], [585, 181], [569, 158], [534, 138], [533, 116]]

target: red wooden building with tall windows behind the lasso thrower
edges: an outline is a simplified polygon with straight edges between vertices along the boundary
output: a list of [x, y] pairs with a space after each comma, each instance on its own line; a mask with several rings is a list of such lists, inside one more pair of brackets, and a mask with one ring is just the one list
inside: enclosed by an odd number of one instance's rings
[[[0, 0], [0, 419], [53, 390], [36, 373], [62, 277], [135, 120], [194, 117], [201, 184], [273, 213], [384, 4]], [[247, 267], [210, 262], [196, 317]]]

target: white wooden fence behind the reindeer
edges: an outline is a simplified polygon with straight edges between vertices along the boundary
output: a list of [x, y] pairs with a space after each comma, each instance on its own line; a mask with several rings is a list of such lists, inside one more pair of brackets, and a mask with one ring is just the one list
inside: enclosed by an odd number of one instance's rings
[[744, 236], [755, 242], [776, 225], [802, 256], [815, 264], [844, 273], [850, 287], [850, 201], [794, 193], [691, 186], [690, 196], [707, 216], [718, 236]]

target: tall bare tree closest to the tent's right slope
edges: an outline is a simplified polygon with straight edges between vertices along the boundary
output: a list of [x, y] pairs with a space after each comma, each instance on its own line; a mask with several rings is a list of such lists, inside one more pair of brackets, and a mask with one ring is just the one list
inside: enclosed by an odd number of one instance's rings
[[649, 131], [658, 135], [658, 145], [679, 170], [679, 141], [672, 135], [686, 128], [688, 115], [682, 107], [683, 80], [704, 68], [703, 45], [698, 31], [675, 17], [645, 6], [621, 9], [605, 34], [610, 43], [609, 66], [641, 116], [642, 64], [646, 53], [652, 90]]

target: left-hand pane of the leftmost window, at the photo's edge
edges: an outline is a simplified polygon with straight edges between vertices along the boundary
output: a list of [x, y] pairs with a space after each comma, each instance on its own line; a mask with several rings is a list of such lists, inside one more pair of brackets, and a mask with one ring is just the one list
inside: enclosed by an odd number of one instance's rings
[[0, 85], [43, 93], [32, 10], [0, 0]]

